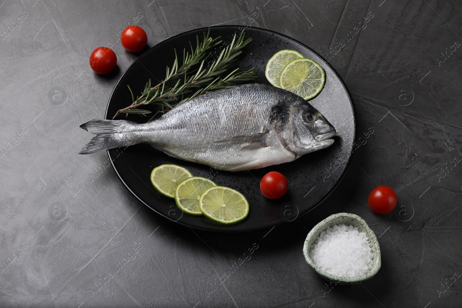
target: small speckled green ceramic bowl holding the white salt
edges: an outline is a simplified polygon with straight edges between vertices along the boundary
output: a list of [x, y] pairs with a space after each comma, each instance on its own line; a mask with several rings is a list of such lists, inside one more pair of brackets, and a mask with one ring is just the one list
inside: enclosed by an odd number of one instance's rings
[[[371, 253], [374, 254], [372, 257], [372, 267], [369, 272], [362, 276], [358, 277], [340, 277], [324, 272], [322, 269], [316, 266], [316, 264], [310, 258], [311, 245], [313, 245], [317, 238], [321, 235], [322, 231], [325, 231], [327, 228], [334, 226], [334, 224], [346, 224], [347, 226], [352, 225], [353, 228], [358, 228], [359, 232], [365, 232], [369, 240], [369, 245], [371, 246]], [[362, 281], [365, 281], [369, 278], [372, 278], [377, 274], [380, 269], [381, 260], [380, 260], [380, 247], [378, 245], [377, 237], [374, 234], [374, 231], [369, 228], [367, 223], [363, 218], [355, 214], [350, 213], [338, 213], [331, 215], [324, 219], [322, 222], [316, 224], [313, 229], [311, 229], [308, 236], [306, 236], [305, 244], [303, 245], [303, 254], [305, 256], [306, 262], [321, 276], [324, 280], [334, 281], [336, 284], [359, 284]]]

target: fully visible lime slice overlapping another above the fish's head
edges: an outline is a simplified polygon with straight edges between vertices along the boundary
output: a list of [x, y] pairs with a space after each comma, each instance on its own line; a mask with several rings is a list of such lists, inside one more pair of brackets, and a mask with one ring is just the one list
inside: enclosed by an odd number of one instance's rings
[[295, 59], [284, 67], [280, 76], [280, 87], [304, 99], [315, 97], [326, 81], [322, 67], [307, 58]]

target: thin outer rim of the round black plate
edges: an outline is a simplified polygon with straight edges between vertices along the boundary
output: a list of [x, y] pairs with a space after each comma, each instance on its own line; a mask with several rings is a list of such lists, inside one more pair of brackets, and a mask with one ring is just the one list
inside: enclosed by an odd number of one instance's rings
[[[149, 48], [148, 50], [146, 50], [143, 54], [141, 54], [136, 60], [134, 60], [134, 62], [132, 64], [130, 64], [130, 66], [127, 67], [127, 69], [122, 73], [121, 77], [119, 78], [119, 80], [117, 81], [116, 85], [114, 86], [114, 89], [112, 90], [111, 92], [111, 95], [109, 97], [109, 101], [108, 101], [108, 104], [106, 106], [106, 112], [104, 114], [104, 118], [106, 119], [108, 117], [108, 111], [109, 111], [109, 103], [112, 99], [112, 96], [114, 95], [114, 91], [116, 91], [116, 88], [118, 87], [121, 79], [125, 76], [125, 74], [128, 72], [128, 70], [135, 65], [135, 63], [137, 61], [139, 61], [142, 57], [146, 56], [146, 54], [148, 54], [148, 52], [153, 49], [153, 48], [156, 48], [158, 47], [159, 45], [163, 44], [165, 41], [167, 40], [170, 40], [170, 39], [174, 39], [176, 38], [177, 36], [182, 36], [182, 35], [185, 35], [185, 34], [188, 34], [190, 32], [195, 32], [195, 31], [207, 31], [209, 28], [212, 29], [212, 28], [239, 28], [239, 27], [242, 27], [242, 25], [218, 25], [218, 26], [210, 26], [210, 27], [202, 27], [202, 28], [197, 28], [197, 29], [193, 29], [193, 30], [188, 30], [188, 31], [185, 31], [185, 32], [181, 32], [181, 33], [178, 33], [174, 36], [170, 36], [166, 39], [164, 39], [163, 41], [161, 42], [158, 42], [156, 45], [152, 46], [151, 48]], [[304, 43], [302, 42], [299, 42], [298, 40], [290, 37], [290, 36], [286, 36], [282, 33], [279, 33], [279, 32], [276, 32], [276, 31], [273, 31], [273, 30], [268, 30], [268, 29], [263, 29], [263, 28], [258, 28], [258, 27], [252, 27], [253, 29], [257, 29], [258, 31], [261, 31], [261, 32], [267, 32], [267, 33], [271, 33], [271, 34], [277, 34], [279, 36], [282, 36], [282, 37], [285, 37], [286, 39], [289, 39], [293, 42], [297, 42], [298, 44], [304, 46], [305, 48], [309, 49], [312, 53], [316, 54], [318, 57], [320, 57], [322, 60], [324, 60], [324, 63], [326, 65], [328, 65], [330, 67], [330, 69], [332, 69], [332, 71], [335, 73], [335, 76], [340, 80], [343, 88], [346, 90], [346, 93], [348, 94], [348, 99], [349, 99], [349, 103], [352, 107], [352, 110], [353, 110], [353, 140], [356, 139], [356, 109], [355, 109], [355, 106], [353, 104], [353, 99], [352, 99], [352, 96], [350, 94], [350, 91], [348, 90], [348, 88], [346, 87], [345, 85], [345, 82], [343, 81], [343, 79], [340, 77], [339, 73], [334, 69], [333, 66], [330, 65], [330, 63], [328, 61], [326, 61], [326, 59], [324, 59], [324, 57], [322, 57], [322, 55], [318, 54], [315, 50], [313, 50], [312, 48], [306, 46]], [[302, 217], [304, 216], [305, 214], [309, 213], [311, 210], [313, 210], [314, 208], [316, 208], [318, 205], [320, 205], [325, 199], [328, 198], [328, 196], [330, 196], [331, 193], [334, 192], [335, 188], [337, 188], [337, 186], [340, 184], [340, 182], [343, 180], [345, 174], [346, 174], [346, 171], [348, 170], [348, 168], [350, 167], [350, 163], [351, 163], [351, 160], [352, 160], [352, 157], [353, 157], [353, 145], [351, 147], [351, 150], [350, 150], [350, 153], [348, 155], [348, 161], [346, 162], [346, 166], [345, 166], [345, 169], [342, 171], [340, 177], [338, 178], [337, 181], [335, 181], [334, 183], [334, 186], [318, 201], [316, 202], [315, 205], [311, 206], [311, 208], [307, 211], [305, 211], [302, 215], [300, 215], [299, 217]], [[269, 228], [274, 228], [275, 226], [279, 226], [279, 225], [282, 225], [282, 224], [286, 224], [286, 223], [290, 223], [292, 222], [291, 221], [285, 221], [285, 220], [282, 220], [280, 222], [277, 222], [277, 223], [273, 223], [271, 225], [267, 225], [267, 226], [263, 226], [263, 227], [258, 227], [258, 228], [250, 228], [250, 229], [245, 229], [245, 230], [229, 230], [229, 229], [223, 229], [223, 230], [220, 230], [220, 229], [207, 229], [207, 228], [201, 228], [201, 227], [198, 227], [198, 226], [191, 226], [187, 223], [182, 223], [180, 221], [174, 221], [172, 219], [169, 219], [168, 217], [165, 217], [162, 213], [156, 211], [155, 209], [153, 209], [151, 206], [149, 206], [148, 204], [146, 204], [146, 202], [144, 202], [142, 199], [140, 199], [140, 197], [138, 197], [131, 189], [130, 187], [128, 187], [127, 183], [125, 181], [123, 181], [122, 179], [122, 176], [119, 174], [119, 172], [117, 171], [116, 169], [116, 166], [114, 165], [114, 162], [113, 160], [111, 159], [111, 154], [109, 152], [109, 150], [106, 150], [107, 154], [108, 154], [108, 157], [109, 157], [109, 160], [111, 162], [111, 165], [112, 165], [112, 168], [114, 169], [114, 171], [116, 172], [117, 176], [119, 177], [119, 179], [122, 181], [122, 184], [128, 189], [128, 191], [130, 193], [132, 193], [134, 195], [134, 197], [138, 200], [140, 200], [140, 202], [144, 205], [146, 205], [148, 208], [150, 208], [152, 211], [156, 212], [160, 217], [163, 217], [164, 219], [166, 220], [169, 220], [170, 222], [174, 222], [174, 223], [178, 223], [184, 227], [189, 227], [189, 228], [194, 228], [194, 229], [199, 229], [199, 230], [202, 230], [202, 231], [207, 231], [207, 232], [218, 232], [218, 233], [243, 233], [243, 232], [257, 232], [257, 231], [262, 231], [262, 230], [267, 230]], [[298, 219], [299, 217], [295, 218], [295, 219]]]

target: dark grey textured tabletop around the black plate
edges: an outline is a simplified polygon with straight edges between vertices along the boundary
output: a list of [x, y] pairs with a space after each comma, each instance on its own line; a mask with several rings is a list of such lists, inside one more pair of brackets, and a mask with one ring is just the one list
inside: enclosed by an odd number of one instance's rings
[[[460, 307], [461, 16], [461, 1], [436, 0], [0, 0], [0, 306]], [[285, 227], [212, 234], [141, 205], [105, 152], [78, 155], [89, 139], [79, 125], [103, 117], [135, 60], [118, 41], [129, 22], [149, 46], [239, 24], [328, 59], [358, 121], [334, 193]], [[118, 66], [98, 76], [89, 54], [108, 44]], [[395, 188], [395, 215], [370, 211], [377, 185]], [[329, 288], [302, 246], [340, 211], [369, 223], [382, 268]]]

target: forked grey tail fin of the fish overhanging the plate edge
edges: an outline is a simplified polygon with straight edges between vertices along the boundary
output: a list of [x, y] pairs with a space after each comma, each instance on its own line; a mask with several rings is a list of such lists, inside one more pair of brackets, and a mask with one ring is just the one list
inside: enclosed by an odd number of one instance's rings
[[134, 145], [134, 140], [127, 138], [127, 133], [133, 130], [134, 124], [136, 123], [125, 120], [95, 119], [80, 125], [82, 129], [96, 134], [96, 136], [91, 138], [79, 154], [91, 154], [97, 151]]

